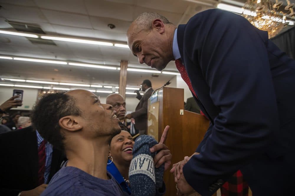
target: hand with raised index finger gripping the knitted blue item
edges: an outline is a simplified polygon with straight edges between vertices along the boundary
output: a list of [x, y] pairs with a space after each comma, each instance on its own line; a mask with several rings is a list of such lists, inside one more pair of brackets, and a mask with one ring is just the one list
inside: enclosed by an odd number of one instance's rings
[[154, 157], [154, 163], [156, 168], [160, 167], [163, 163], [165, 163], [164, 171], [166, 171], [169, 168], [171, 164], [171, 159], [172, 159], [170, 150], [165, 145], [169, 128], [170, 127], [168, 125], [165, 127], [159, 144], [156, 144], [150, 148], [150, 152], [155, 152], [160, 150], [160, 152], [158, 152]]

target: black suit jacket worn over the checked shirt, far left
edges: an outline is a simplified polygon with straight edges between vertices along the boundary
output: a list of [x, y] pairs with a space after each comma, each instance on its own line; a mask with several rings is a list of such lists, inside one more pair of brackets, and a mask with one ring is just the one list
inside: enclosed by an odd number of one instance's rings
[[[17, 196], [38, 186], [38, 146], [32, 126], [0, 134], [0, 195]], [[53, 148], [48, 182], [65, 156]]]

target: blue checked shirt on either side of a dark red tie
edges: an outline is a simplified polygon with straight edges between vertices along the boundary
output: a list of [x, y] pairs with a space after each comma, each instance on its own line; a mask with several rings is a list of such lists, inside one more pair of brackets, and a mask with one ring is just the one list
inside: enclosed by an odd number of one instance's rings
[[[38, 148], [41, 145], [41, 142], [44, 140], [43, 137], [36, 131], [37, 134], [37, 144]], [[51, 166], [51, 161], [52, 161], [52, 152], [53, 152], [53, 147], [49, 142], [46, 142], [45, 144], [45, 172], [44, 172], [44, 184], [47, 184], [48, 182], [48, 177], [50, 173], [50, 166]]]

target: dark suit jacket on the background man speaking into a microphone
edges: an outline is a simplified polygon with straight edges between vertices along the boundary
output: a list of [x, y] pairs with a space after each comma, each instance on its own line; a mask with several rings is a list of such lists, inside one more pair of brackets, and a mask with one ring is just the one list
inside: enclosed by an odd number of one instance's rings
[[[140, 98], [139, 103], [136, 106], [135, 112], [132, 112], [132, 118], [135, 119], [135, 128], [139, 130], [139, 133], [146, 134], [146, 129], [148, 125], [148, 99], [153, 93], [153, 88], [150, 88], [144, 95]], [[139, 96], [136, 97], [139, 99]]]

